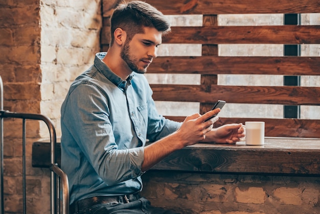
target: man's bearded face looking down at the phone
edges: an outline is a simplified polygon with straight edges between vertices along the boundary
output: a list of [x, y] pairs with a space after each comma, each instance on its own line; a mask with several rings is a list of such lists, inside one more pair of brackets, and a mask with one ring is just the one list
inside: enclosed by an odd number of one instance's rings
[[157, 47], [162, 42], [162, 32], [155, 28], [144, 28], [144, 33], [135, 34], [131, 41], [125, 41], [121, 49], [121, 58], [128, 67], [140, 74], [147, 72], [147, 68], [155, 58]]

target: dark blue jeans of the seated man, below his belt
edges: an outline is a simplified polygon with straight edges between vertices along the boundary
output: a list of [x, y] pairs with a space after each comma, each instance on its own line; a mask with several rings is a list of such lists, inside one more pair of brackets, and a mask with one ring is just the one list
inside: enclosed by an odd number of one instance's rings
[[[130, 203], [97, 204], [87, 209], [79, 210], [74, 214], [179, 214], [170, 210], [153, 207], [142, 197]], [[73, 213], [70, 213], [73, 214]]]

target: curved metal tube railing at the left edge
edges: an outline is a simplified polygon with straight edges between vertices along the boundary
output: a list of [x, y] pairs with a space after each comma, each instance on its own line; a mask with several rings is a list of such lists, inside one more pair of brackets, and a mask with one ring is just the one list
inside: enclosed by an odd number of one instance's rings
[[[61, 170], [56, 163], [56, 130], [50, 120], [50, 118], [41, 114], [29, 114], [29, 113], [15, 113], [3, 110], [3, 81], [0, 77], [0, 94], [1, 94], [1, 110], [0, 110], [0, 214], [4, 213], [4, 129], [3, 119], [4, 118], [21, 118], [22, 119], [22, 200], [23, 200], [23, 213], [26, 213], [26, 119], [30, 120], [41, 120], [47, 124], [50, 133], [51, 143], [51, 213], [60, 213], [60, 200], [62, 201], [62, 213], [69, 213], [69, 186], [67, 175]], [[62, 187], [60, 186], [62, 185]], [[62, 199], [60, 198], [60, 191], [62, 190]]]

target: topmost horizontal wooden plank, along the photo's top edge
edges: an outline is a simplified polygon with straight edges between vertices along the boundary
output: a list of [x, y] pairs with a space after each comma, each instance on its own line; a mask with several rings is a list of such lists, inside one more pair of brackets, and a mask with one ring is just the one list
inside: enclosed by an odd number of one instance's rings
[[[110, 16], [121, 0], [103, 0], [103, 16]], [[164, 14], [319, 13], [318, 0], [147, 0]]]

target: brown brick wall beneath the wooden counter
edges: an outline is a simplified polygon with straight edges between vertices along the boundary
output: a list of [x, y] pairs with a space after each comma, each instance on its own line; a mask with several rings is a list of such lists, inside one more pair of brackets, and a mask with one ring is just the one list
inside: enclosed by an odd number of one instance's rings
[[147, 172], [142, 195], [184, 214], [320, 213], [320, 178]]

